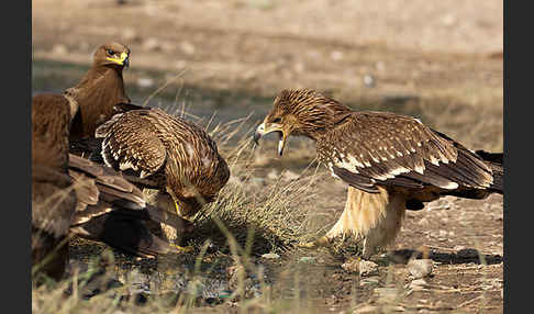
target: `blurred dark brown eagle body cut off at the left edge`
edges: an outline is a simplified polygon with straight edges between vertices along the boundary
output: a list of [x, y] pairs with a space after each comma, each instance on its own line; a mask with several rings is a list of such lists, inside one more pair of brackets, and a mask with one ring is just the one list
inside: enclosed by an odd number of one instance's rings
[[[48, 105], [52, 103], [52, 105]], [[67, 99], [42, 94], [32, 105], [32, 266], [59, 280], [68, 259], [76, 193], [68, 175]], [[46, 115], [46, 120], [42, 119]]]

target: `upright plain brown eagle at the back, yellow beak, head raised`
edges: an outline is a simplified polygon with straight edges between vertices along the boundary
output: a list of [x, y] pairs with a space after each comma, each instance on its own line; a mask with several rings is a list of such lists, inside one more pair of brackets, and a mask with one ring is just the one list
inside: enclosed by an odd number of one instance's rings
[[93, 137], [94, 130], [116, 113], [115, 104], [130, 102], [122, 78], [129, 63], [129, 47], [116, 42], [105, 43], [94, 51], [92, 66], [81, 80], [64, 91], [79, 104], [70, 141]]

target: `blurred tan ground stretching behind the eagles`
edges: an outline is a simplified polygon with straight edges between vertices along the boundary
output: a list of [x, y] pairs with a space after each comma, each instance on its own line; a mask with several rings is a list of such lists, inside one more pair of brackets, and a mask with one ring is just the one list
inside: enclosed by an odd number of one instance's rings
[[[135, 103], [254, 125], [283, 88], [413, 114], [502, 149], [502, 1], [35, 0], [33, 91], [75, 85], [92, 51], [132, 49]], [[481, 123], [483, 122], [483, 123]], [[298, 139], [297, 139], [298, 141]]]

